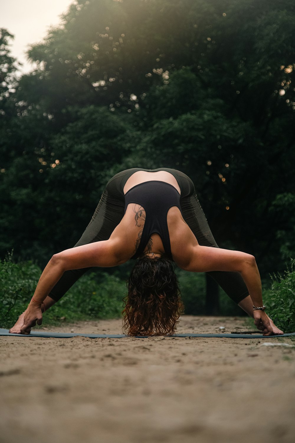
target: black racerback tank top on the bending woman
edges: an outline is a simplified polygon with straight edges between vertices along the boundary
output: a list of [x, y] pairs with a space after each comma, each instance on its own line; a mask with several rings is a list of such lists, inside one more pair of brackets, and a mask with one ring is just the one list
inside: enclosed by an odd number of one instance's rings
[[125, 194], [124, 214], [129, 203], [137, 203], [146, 211], [146, 221], [138, 250], [131, 258], [141, 256], [150, 236], [157, 233], [161, 237], [165, 254], [172, 260], [167, 213], [172, 206], [177, 206], [181, 212], [180, 194], [176, 188], [169, 183], [156, 180], [139, 183]]

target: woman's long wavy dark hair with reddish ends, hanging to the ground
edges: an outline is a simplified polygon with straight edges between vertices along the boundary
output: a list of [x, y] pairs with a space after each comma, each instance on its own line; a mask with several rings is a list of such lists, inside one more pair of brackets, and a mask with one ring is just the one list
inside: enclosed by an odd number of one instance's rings
[[123, 329], [128, 335], [173, 334], [183, 312], [174, 267], [165, 258], [137, 260], [127, 280]]

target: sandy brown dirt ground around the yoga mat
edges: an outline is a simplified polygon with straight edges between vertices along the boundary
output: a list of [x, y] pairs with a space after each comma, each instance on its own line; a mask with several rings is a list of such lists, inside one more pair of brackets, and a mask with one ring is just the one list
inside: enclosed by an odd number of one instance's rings
[[[51, 330], [118, 334], [121, 326]], [[246, 329], [229, 317], [183, 316], [178, 327]], [[295, 341], [2, 337], [0, 398], [1, 443], [293, 443]]]

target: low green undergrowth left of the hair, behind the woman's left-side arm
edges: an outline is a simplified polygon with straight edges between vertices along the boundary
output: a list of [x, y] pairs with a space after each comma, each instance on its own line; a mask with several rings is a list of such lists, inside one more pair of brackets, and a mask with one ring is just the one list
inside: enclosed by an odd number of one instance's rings
[[[0, 262], [0, 327], [11, 327], [26, 309], [41, 269], [31, 261], [15, 264], [11, 256]], [[123, 310], [126, 283], [105, 272], [84, 275], [67, 294], [43, 315], [43, 326], [62, 319], [118, 318]]]

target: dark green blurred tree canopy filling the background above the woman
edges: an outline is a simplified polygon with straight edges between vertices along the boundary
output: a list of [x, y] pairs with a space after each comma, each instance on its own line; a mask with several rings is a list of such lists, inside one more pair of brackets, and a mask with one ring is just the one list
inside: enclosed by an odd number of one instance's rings
[[[130, 167], [188, 174], [220, 246], [295, 249], [293, 0], [73, 2], [16, 82], [0, 31], [0, 251], [44, 265]], [[293, 83], [292, 83], [293, 81]]]

